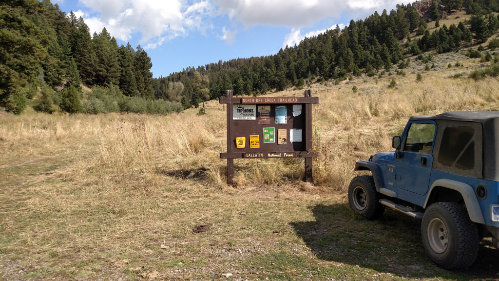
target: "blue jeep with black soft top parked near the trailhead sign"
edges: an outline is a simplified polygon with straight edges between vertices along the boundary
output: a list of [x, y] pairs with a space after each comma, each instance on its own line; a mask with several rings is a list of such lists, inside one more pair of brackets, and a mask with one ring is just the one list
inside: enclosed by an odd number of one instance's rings
[[499, 248], [499, 111], [413, 116], [392, 146], [355, 164], [371, 172], [350, 182], [355, 212], [421, 219], [426, 252], [443, 268], [472, 265], [481, 238]]

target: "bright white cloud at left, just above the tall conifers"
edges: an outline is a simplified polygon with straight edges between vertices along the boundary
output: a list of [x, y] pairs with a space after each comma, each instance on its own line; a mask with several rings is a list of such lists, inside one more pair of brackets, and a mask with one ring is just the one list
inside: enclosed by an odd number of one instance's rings
[[187, 34], [189, 29], [204, 32], [213, 28], [205, 18], [215, 10], [208, 0], [187, 5], [185, 0], [80, 0], [92, 13], [82, 13], [91, 33], [105, 26], [116, 38], [127, 41], [133, 33], [140, 42], [156, 47], [165, 40]]

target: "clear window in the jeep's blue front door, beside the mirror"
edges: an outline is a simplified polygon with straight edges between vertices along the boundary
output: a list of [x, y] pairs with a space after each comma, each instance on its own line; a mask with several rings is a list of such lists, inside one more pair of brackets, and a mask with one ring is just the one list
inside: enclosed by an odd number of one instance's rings
[[430, 154], [434, 136], [435, 124], [412, 123], [403, 150]]

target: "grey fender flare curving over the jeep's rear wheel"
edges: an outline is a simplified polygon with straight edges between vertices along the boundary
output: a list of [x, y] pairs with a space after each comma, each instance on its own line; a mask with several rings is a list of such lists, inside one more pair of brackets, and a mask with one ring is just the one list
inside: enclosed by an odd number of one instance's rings
[[453, 189], [461, 193], [463, 199], [465, 200], [466, 208], [468, 209], [468, 214], [470, 215], [470, 219], [473, 222], [477, 223], [485, 223], [484, 215], [482, 214], [482, 209], [480, 208], [480, 204], [478, 203], [477, 195], [473, 188], [466, 183], [452, 180], [452, 179], [437, 179], [433, 182], [430, 190], [428, 191], [428, 196], [426, 196], [425, 204], [423, 208], [426, 209], [428, 206], [428, 200], [430, 199], [430, 195], [435, 187], [445, 187], [449, 189]]

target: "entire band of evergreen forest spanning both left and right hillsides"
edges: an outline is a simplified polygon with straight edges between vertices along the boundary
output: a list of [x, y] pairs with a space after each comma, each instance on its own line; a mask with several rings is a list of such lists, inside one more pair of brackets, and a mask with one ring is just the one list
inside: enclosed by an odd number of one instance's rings
[[[440, 26], [452, 10], [470, 20]], [[405, 57], [484, 42], [499, 28], [499, 0], [423, 0], [375, 11], [274, 55], [236, 58], [187, 67], [153, 78], [151, 59], [139, 46], [118, 46], [106, 28], [90, 35], [83, 18], [49, 0], [5, 0], [0, 5], [0, 106], [20, 112], [26, 103], [51, 112], [133, 111], [168, 113], [218, 98], [301, 88], [317, 80], [334, 83], [403, 69]], [[429, 25], [435, 27], [430, 32]], [[411, 38], [416, 34], [417, 39]], [[92, 87], [82, 92], [81, 84]]]

